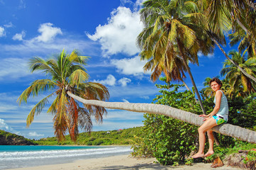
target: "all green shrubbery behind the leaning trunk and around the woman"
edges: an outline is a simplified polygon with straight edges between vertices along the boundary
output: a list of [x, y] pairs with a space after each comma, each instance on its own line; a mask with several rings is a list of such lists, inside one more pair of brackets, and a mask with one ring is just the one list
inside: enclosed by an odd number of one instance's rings
[[[183, 85], [171, 84], [165, 77], [161, 77], [160, 80], [165, 81], [165, 84], [156, 84], [160, 89], [160, 95], [153, 100], [155, 103], [201, 114], [199, 103], [194, 102], [194, 94], [191, 91], [185, 90]], [[205, 85], [205, 88], [208, 88], [208, 84]], [[228, 97], [228, 123], [255, 130], [255, 95], [250, 94], [247, 98]], [[204, 106], [206, 112], [210, 113], [213, 108], [213, 96], [205, 96]], [[192, 160], [189, 159], [189, 155], [198, 147], [196, 126], [165, 115], [145, 114], [144, 116], [143, 134], [140, 140], [133, 142], [134, 152], [132, 155], [134, 157], [156, 157], [160, 164], [165, 165], [177, 164], [177, 162], [191, 164]], [[240, 149], [250, 150], [256, 147], [255, 144], [243, 142], [234, 137], [221, 134], [218, 134], [217, 137], [220, 144], [215, 144], [215, 154], [208, 158], [209, 161], [213, 161], [216, 157], [226, 159], [228, 155], [238, 153]], [[205, 149], [208, 149], [207, 145]]]

